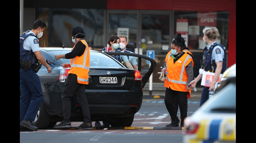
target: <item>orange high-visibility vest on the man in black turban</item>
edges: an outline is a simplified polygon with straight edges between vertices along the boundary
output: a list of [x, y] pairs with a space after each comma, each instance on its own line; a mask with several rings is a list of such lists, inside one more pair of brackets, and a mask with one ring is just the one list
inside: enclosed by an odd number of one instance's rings
[[[76, 56], [71, 59], [70, 73], [77, 75], [77, 82], [81, 84], [89, 83], [89, 70], [90, 70], [90, 52], [88, 49], [88, 44], [85, 39], [80, 40], [86, 47], [82, 56]], [[77, 44], [77, 43], [75, 43]], [[75, 45], [74, 45], [75, 47]], [[73, 49], [74, 49], [73, 47]], [[72, 50], [73, 50], [72, 49]]]

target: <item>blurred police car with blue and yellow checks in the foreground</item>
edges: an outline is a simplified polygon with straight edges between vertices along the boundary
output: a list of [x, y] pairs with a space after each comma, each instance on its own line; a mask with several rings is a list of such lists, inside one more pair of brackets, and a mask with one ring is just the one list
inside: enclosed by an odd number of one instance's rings
[[183, 143], [236, 142], [236, 83], [231, 82], [184, 120]]

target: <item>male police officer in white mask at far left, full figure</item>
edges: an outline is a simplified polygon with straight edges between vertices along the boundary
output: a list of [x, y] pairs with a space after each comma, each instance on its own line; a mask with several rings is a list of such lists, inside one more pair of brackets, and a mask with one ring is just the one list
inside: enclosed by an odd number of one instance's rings
[[52, 70], [39, 49], [38, 38], [43, 36], [45, 27], [45, 23], [38, 20], [33, 24], [31, 31], [20, 36], [20, 131], [38, 130], [32, 121], [35, 120], [42, 103], [43, 92], [36, 72], [41, 64], [46, 67], [48, 73]]

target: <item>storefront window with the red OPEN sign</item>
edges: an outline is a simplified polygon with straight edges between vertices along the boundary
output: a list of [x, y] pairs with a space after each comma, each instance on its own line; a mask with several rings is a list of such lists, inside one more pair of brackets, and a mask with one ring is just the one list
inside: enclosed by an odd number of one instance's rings
[[229, 12], [226, 11], [174, 11], [174, 35], [178, 32], [186, 40], [189, 50], [202, 50], [202, 30], [214, 26], [219, 30], [217, 42], [228, 48]]

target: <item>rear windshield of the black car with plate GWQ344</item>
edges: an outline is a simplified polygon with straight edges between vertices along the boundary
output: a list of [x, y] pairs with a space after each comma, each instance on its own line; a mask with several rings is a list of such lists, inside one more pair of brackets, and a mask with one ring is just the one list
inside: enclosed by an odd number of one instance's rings
[[[51, 55], [66, 54], [70, 51], [48, 51]], [[70, 59], [60, 59], [63, 63], [69, 63]], [[113, 58], [101, 53], [101, 52], [90, 52], [90, 67], [123, 67], [119, 62]]]

